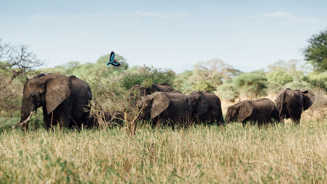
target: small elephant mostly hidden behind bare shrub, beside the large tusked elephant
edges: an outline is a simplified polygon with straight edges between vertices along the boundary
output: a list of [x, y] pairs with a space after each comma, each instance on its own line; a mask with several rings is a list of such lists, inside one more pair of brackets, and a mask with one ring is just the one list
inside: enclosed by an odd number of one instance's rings
[[[99, 115], [99, 118], [101, 118], [101, 120], [105, 123], [109, 122], [109, 123], [115, 123], [115, 124], [122, 124], [121, 119], [124, 119], [124, 113], [120, 112], [120, 111], [116, 111], [113, 113], [103, 112], [103, 114], [101, 114], [99, 112], [98, 115]], [[119, 119], [114, 119], [114, 118], [119, 118]], [[117, 121], [115, 122], [115, 120], [117, 120]], [[89, 118], [88, 118], [88, 124], [90, 126], [99, 126], [99, 120], [98, 120], [98, 118], [95, 117], [94, 114], [90, 114]]]

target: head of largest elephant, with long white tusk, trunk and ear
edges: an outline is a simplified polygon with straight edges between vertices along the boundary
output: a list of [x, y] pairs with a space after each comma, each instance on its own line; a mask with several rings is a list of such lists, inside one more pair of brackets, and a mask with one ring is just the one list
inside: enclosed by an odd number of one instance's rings
[[25, 122], [22, 123], [23, 129], [28, 129], [28, 120], [33, 111], [45, 106], [46, 112], [43, 113], [50, 114], [70, 95], [71, 89], [71, 80], [57, 73], [38, 74], [27, 80], [23, 89], [21, 119], [19, 121], [19, 123]]

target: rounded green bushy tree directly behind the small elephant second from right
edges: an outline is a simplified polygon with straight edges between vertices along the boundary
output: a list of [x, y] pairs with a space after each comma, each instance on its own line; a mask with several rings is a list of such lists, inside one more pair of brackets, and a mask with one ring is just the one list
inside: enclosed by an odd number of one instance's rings
[[251, 100], [267, 95], [267, 78], [258, 73], [242, 73], [233, 79], [239, 93]]

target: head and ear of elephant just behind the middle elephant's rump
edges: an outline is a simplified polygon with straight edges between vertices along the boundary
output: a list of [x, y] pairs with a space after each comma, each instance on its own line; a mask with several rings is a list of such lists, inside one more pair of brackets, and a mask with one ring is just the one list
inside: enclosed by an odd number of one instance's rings
[[208, 111], [208, 100], [200, 91], [193, 91], [187, 96], [192, 105], [193, 117], [199, 117]]

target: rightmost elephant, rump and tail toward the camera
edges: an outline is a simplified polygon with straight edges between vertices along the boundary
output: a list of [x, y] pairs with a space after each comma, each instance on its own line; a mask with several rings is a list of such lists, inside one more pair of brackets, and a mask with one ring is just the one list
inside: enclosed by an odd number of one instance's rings
[[310, 90], [284, 89], [276, 96], [279, 122], [283, 122], [284, 118], [291, 118], [293, 122], [299, 124], [302, 112], [307, 110], [314, 101], [315, 95]]

